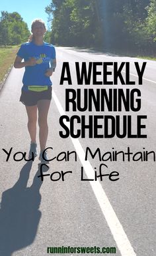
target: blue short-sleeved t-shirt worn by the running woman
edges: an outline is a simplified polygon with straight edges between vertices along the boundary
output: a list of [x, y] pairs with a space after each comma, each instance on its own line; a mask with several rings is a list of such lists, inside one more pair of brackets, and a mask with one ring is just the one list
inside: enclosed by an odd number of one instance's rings
[[34, 66], [25, 66], [24, 76], [22, 78], [22, 90], [28, 90], [28, 86], [52, 86], [50, 77], [45, 72], [50, 68], [50, 59], [56, 59], [56, 51], [53, 45], [43, 43], [35, 45], [33, 42], [21, 45], [17, 56], [28, 61], [31, 57], [37, 60]]

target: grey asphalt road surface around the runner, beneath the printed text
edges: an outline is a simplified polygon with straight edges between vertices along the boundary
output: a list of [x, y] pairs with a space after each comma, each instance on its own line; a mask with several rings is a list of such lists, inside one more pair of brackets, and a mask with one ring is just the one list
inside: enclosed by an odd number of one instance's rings
[[[151, 154], [148, 161], [132, 161], [118, 158], [118, 161], [99, 161], [89, 156], [84, 161], [84, 154], [89, 147], [92, 152], [97, 148], [103, 155], [112, 150], [127, 152], [128, 147], [134, 154], [137, 152], [155, 152], [155, 116], [156, 116], [156, 63], [130, 57], [116, 57], [110, 54], [83, 51], [65, 47], [56, 49], [58, 66], [52, 76], [53, 100], [48, 116], [49, 156], [58, 156], [50, 162], [50, 168], [44, 174], [53, 174], [57, 179], [59, 173], [65, 174], [65, 181], [54, 182], [50, 176], [45, 176], [41, 182], [38, 158], [33, 163], [20, 159], [17, 152], [28, 152], [29, 136], [26, 129], [26, 112], [24, 105], [19, 102], [22, 75], [24, 70], [12, 68], [5, 86], [0, 93], [0, 126], [1, 126], [1, 179], [0, 179], [0, 255], [3, 256], [44, 256], [47, 247], [116, 247], [117, 256], [155, 256], [156, 255], [156, 189], [155, 189], [155, 161]], [[138, 77], [134, 62], [139, 65], [147, 62], [143, 74], [143, 84], [138, 85]], [[63, 62], [69, 63], [72, 85], [67, 82], [60, 85]], [[122, 62], [130, 63], [130, 79], [135, 85], [90, 85], [77, 86], [75, 62]], [[102, 74], [102, 65], [98, 66]], [[109, 66], [109, 80], [113, 79], [113, 66]], [[122, 70], [125, 78], [125, 68]], [[66, 73], [65, 73], [66, 74]], [[98, 74], [97, 79], [102, 80]], [[81, 102], [83, 104], [84, 88], [139, 88], [141, 91], [141, 110], [139, 112], [65, 112], [65, 88], [81, 88]], [[82, 105], [83, 106], [83, 105]], [[70, 105], [71, 109], [71, 105]], [[123, 114], [132, 116], [132, 131], [137, 130], [137, 115], [146, 115], [143, 120], [146, 125], [143, 134], [147, 138], [61, 138], [59, 131], [63, 128], [59, 124], [60, 114], [69, 117], [85, 115], [112, 115], [122, 117]], [[98, 120], [103, 126], [103, 120]], [[129, 124], [130, 126], [130, 124]], [[75, 122], [75, 132], [81, 125]], [[122, 129], [122, 123], [120, 124]], [[103, 134], [103, 128], [99, 128]], [[111, 129], [110, 129], [111, 130]], [[109, 131], [110, 131], [109, 130]], [[11, 150], [8, 161], [7, 154], [2, 149]], [[65, 161], [67, 152], [75, 152]], [[75, 158], [77, 156], [77, 158]], [[106, 155], [108, 156], [108, 155]], [[105, 156], [105, 160], [106, 160]], [[139, 155], [137, 155], [139, 157]], [[100, 164], [102, 174], [118, 172], [119, 180], [112, 182], [108, 176], [102, 181], [82, 181], [83, 166], [84, 179], [93, 178], [95, 170], [98, 173]], [[58, 254], [60, 255], [60, 253]], [[82, 255], [79, 253], [65, 253], [65, 255]], [[88, 255], [97, 255], [89, 253]], [[101, 254], [106, 255], [106, 254]], [[108, 254], [109, 255], [109, 254]]]

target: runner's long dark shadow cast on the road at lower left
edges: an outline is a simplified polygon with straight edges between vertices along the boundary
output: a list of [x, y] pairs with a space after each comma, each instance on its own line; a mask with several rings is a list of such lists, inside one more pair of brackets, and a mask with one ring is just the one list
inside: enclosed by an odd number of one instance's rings
[[14, 251], [30, 245], [36, 236], [41, 212], [39, 211], [42, 182], [38, 179], [40, 166], [32, 186], [26, 188], [32, 162], [20, 171], [15, 186], [2, 194], [0, 209], [0, 255], [11, 256]]

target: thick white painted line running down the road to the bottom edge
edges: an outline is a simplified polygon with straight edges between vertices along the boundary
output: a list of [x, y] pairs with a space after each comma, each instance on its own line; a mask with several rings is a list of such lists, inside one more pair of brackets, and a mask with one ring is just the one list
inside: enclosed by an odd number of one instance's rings
[[[56, 106], [59, 110], [59, 114], [65, 115], [65, 112], [54, 90], [52, 92], [52, 95], [53, 95], [54, 102], [56, 103]], [[69, 124], [67, 122], [65, 123], [65, 125], [69, 127]], [[71, 141], [73, 142], [73, 146], [75, 147], [75, 150], [79, 156], [79, 160], [83, 165], [87, 178], [88, 179], [93, 178], [95, 176], [95, 171], [93, 170], [93, 167], [91, 166], [90, 162], [88, 160], [85, 161], [85, 152], [79, 140], [77, 138], [71, 138]], [[97, 197], [97, 201], [100, 205], [100, 209], [102, 210], [104, 218], [106, 219], [108, 226], [110, 227], [110, 231], [112, 232], [112, 236], [116, 241], [116, 245], [118, 246], [118, 249], [121, 255], [136, 256], [136, 253], [134, 252], [134, 249], [130, 241], [128, 240], [126, 233], [124, 232], [124, 229], [120, 221], [118, 220], [118, 217], [116, 216], [116, 213], [114, 212], [114, 209], [112, 208], [112, 205], [110, 204], [110, 201], [106, 196], [106, 193], [102, 189], [100, 182], [90, 181], [90, 184], [93, 189], [93, 192], [95, 193], [95, 196]]]

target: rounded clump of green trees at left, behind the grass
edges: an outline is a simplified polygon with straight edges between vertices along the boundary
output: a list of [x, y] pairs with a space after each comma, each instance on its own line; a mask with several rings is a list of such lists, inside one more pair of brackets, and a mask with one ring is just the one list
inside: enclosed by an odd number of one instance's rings
[[27, 24], [17, 12], [1, 11], [0, 45], [19, 45], [28, 40]]

